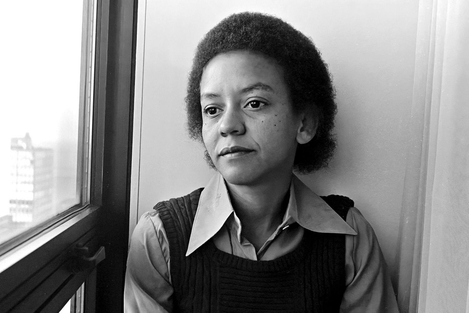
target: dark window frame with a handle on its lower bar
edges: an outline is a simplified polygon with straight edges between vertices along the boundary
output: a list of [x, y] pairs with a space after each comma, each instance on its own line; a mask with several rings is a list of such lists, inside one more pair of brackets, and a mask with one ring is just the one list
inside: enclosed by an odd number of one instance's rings
[[[59, 312], [83, 282], [84, 312], [123, 312], [136, 13], [137, 0], [97, 0], [90, 203], [43, 223], [6, 252], [17, 261], [0, 272], [1, 312]], [[106, 258], [74, 274], [69, 263], [77, 244], [104, 246]]]

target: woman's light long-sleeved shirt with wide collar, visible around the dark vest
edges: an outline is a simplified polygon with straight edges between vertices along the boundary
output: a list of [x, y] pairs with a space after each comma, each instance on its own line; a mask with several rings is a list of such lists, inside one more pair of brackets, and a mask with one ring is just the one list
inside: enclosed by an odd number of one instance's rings
[[[199, 199], [189, 255], [208, 240], [227, 253], [251, 260], [279, 258], [298, 246], [304, 229], [345, 235], [346, 289], [340, 312], [399, 312], [386, 263], [370, 224], [356, 208], [347, 221], [330, 208], [295, 175], [282, 222], [256, 252], [241, 235], [241, 222], [230, 203], [225, 182], [215, 174]], [[146, 212], [132, 234], [127, 260], [124, 312], [172, 312], [173, 287], [169, 245], [156, 211]]]

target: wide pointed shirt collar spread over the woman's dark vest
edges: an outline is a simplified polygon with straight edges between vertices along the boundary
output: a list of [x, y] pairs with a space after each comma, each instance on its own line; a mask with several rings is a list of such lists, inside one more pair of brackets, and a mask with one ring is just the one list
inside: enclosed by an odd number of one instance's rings
[[[186, 256], [212, 238], [233, 211], [225, 180], [216, 173], [200, 195]], [[318, 233], [356, 235], [347, 222], [294, 174], [284, 222], [286, 219]]]

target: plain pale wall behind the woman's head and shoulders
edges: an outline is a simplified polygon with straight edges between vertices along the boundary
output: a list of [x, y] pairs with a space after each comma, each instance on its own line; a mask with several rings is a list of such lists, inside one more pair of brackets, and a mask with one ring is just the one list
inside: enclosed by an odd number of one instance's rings
[[330, 169], [302, 180], [320, 195], [352, 198], [394, 268], [418, 1], [253, 2], [146, 1], [146, 15], [139, 16], [145, 18], [144, 56], [137, 59], [143, 66], [138, 217], [159, 201], [203, 187], [212, 176], [204, 149], [185, 132], [183, 98], [192, 55], [198, 40], [222, 18], [261, 11], [313, 39], [337, 89], [336, 157]]

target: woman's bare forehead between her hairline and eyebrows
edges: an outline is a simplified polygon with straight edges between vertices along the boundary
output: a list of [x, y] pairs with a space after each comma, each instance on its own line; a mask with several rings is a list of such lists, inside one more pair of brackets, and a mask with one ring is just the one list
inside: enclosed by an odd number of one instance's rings
[[252, 85], [274, 93], [287, 91], [283, 70], [273, 58], [244, 50], [230, 51], [216, 55], [205, 65], [200, 93], [242, 91]]

